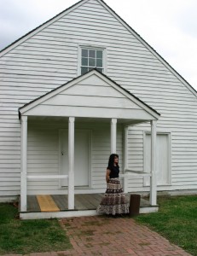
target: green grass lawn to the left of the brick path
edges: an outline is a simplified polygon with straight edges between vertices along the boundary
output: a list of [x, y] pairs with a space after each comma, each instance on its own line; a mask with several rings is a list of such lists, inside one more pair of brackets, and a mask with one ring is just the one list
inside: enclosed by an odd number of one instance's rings
[[71, 248], [57, 219], [20, 220], [18, 209], [0, 204], [0, 254], [38, 253]]

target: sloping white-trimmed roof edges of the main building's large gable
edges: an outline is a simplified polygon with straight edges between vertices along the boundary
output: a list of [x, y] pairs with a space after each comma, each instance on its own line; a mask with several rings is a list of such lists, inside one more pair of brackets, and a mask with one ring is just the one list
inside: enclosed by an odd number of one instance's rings
[[[73, 4], [70, 8], [63, 10], [60, 14], [55, 15], [53, 18], [51, 18], [50, 20], [47, 20], [46, 22], [44, 22], [42, 25], [36, 27], [35, 29], [33, 29], [31, 32], [26, 33], [26, 35], [24, 35], [23, 37], [17, 39], [16, 41], [14, 41], [14, 43], [10, 44], [9, 46], [7, 46], [6, 48], [2, 49], [0, 51], [0, 57], [4, 54], [6, 54], [9, 50], [13, 49], [15, 46], [17, 46], [18, 44], [22, 43], [23, 41], [25, 41], [27, 38], [31, 38], [32, 35], [36, 34], [37, 32], [41, 31], [44, 27], [49, 26], [52, 22], [54, 22], [55, 20], [59, 20], [63, 15], [67, 15], [67, 13], [71, 12], [73, 9], [77, 9], [80, 5], [89, 2], [90, 0], [81, 0], [78, 3]], [[125, 20], [123, 20], [119, 15], [116, 14], [115, 11], [113, 11], [113, 9], [111, 9], [107, 3], [105, 3], [103, 0], [96, 0], [97, 2], [101, 3], [101, 5], [107, 9], [117, 20], [119, 20], [119, 22], [125, 26], [145, 47], [147, 47], [152, 54], [154, 54], [159, 61], [161, 61], [165, 67], [167, 67], [171, 73], [173, 73], [177, 79], [179, 79], [184, 85], [186, 85], [186, 87], [188, 88], [188, 90], [190, 90], [194, 96], [197, 96], [197, 90], [195, 90], [191, 84], [188, 84], [188, 82], [183, 79], [183, 77], [177, 73], [177, 71], [171, 67], [171, 65], [165, 61], [165, 59], [159, 55], [159, 53], [157, 53], [157, 51], [151, 47], [133, 28], [131, 28], [126, 22]]]

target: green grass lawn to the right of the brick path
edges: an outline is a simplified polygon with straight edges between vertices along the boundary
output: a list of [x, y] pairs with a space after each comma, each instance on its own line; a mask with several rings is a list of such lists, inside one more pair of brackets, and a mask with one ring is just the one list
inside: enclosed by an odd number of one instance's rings
[[159, 212], [136, 220], [197, 256], [197, 195], [159, 197], [158, 204]]

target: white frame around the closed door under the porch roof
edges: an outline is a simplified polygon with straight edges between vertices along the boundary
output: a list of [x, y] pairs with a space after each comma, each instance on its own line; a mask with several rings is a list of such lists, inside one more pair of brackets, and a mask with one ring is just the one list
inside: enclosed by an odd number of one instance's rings
[[[68, 128], [65, 128], [65, 129], [59, 129], [59, 132], [58, 132], [58, 140], [59, 140], [59, 174], [61, 174], [61, 133], [62, 131], [67, 131], [68, 133]], [[89, 166], [89, 183], [87, 186], [75, 186], [75, 189], [91, 189], [92, 188], [92, 168], [91, 168], [91, 159], [92, 159], [92, 131], [90, 129], [75, 129], [74, 130], [75, 132], [76, 131], [87, 131], [88, 132], [88, 135], [89, 135], [89, 163], [88, 163], [88, 166]], [[67, 186], [62, 186], [62, 183], [61, 183], [61, 179], [59, 179], [59, 189], [67, 189]]]

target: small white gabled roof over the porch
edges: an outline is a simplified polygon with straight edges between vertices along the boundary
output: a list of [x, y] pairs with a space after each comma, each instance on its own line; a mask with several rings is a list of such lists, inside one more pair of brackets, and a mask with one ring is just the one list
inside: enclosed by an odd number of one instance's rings
[[127, 121], [159, 119], [159, 113], [96, 69], [19, 108], [19, 115]]

